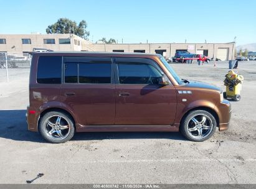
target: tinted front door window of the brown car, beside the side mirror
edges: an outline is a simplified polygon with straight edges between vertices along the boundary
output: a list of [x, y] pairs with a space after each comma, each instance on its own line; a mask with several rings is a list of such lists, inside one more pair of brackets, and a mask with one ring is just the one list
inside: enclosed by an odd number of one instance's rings
[[163, 75], [147, 63], [118, 63], [118, 78], [120, 84], [158, 85]]

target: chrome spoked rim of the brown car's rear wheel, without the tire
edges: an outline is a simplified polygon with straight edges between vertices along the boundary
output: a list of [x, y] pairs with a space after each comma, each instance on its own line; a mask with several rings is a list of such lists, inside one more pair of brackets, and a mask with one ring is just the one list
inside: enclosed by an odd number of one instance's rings
[[53, 115], [45, 119], [43, 131], [48, 137], [65, 139], [70, 133], [69, 122], [60, 115]]

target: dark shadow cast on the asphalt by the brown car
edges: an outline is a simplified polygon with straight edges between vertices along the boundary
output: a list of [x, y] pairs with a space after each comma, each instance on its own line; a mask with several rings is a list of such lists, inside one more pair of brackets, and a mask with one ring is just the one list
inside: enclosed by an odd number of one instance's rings
[[[38, 132], [27, 130], [26, 110], [0, 110], [0, 138], [14, 141], [46, 142]], [[72, 141], [104, 139], [171, 139], [186, 141], [179, 132], [77, 132]]]

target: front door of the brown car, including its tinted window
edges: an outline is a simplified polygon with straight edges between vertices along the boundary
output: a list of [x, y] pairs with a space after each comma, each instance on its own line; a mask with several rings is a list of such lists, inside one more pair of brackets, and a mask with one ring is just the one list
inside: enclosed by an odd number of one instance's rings
[[159, 85], [163, 71], [149, 58], [115, 59], [116, 125], [171, 125], [176, 115], [173, 85]]

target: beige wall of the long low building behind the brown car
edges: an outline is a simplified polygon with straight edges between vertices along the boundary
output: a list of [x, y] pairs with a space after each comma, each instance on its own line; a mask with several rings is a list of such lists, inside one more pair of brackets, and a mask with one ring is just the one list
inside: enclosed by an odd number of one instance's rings
[[[218, 58], [218, 49], [227, 52], [227, 60], [234, 58], [235, 44], [92, 44], [73, 34], [24, 34], [4, 35], [0, 39], [6, 39], [6, 44], [0, 44], [0, 52], [22, 53], [30, 52], [33, 48], [46, 48], [54, 51], [94, 51], [113, 52], [123, 50], [134, 52], [145, 50], [145, 53], [163, 53], [164, 57], [174, 57], [176, 50], [187, 50], [197, 53], [197, 50], [207, 50], [208, 57]], [[31, 44], [22, 44], [22, 39], [31, 39]], [[55, 39], [55, 44], [44, 44], [44, 39]], [[70, 44], [59, 44], [59, 39], [70, 39]], [[75, 40], [76, 43], [75, 44]], [[223, 50], [225, 48], [226, 50]], [[219, 51], [220, 52], [220, 51]]]

